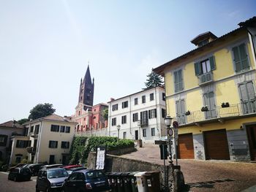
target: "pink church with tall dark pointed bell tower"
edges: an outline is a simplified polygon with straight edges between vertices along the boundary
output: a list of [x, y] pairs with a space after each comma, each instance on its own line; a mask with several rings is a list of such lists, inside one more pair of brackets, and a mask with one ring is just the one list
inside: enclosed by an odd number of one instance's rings
[[105, 127], [107, 127], [108, 121], [105, 122], [102, 113], [103, 110], [108, 108], [108, 105], [103, 103], [93, 105], [93, 102], [94, 79], [91, 82], [91, 74], [88, 66], [85, 77], [83, 80], [80, 80], [78, 105], [75, 107], [75, 115], [72, 115], [72, 120], [78, 123], [75, 128], [76, 134], [91, 136], [101, 133], [102, 129], [106, 129]]

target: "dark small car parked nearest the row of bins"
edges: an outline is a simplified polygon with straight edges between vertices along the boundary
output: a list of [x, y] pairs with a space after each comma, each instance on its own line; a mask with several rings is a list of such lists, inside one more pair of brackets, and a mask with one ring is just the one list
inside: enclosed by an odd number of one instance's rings
[[110, 191], [110, 183], [101, 170], [83, 169], [72, 172], [62, 185], [61, 192], [73, 191]]

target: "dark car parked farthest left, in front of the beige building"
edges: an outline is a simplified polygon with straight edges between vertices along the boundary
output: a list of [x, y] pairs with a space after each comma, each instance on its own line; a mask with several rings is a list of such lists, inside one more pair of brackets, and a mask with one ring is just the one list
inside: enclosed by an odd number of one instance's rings
[[8, 174], [8, 180], [21, 181], [30, 180], [31, 172], [29, 168], [16, 167], [10, 170]]

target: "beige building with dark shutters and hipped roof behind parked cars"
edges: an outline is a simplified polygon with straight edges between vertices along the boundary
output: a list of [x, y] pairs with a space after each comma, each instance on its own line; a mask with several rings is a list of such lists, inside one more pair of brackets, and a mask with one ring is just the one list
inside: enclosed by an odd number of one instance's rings
[[24, 158], [34, 163], [68, 164], [76, 124], [56, 114], [23, 124], [25, 136], [12, 137], [10, 164]]

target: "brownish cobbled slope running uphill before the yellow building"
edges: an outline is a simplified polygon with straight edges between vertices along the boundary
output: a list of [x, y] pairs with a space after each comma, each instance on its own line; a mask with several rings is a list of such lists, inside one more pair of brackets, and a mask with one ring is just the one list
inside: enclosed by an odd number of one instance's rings
[[[138, 151], [121, 155], [154, 164], [164, 164], [158, 145], [144, 145]], [[173, 162], [176, 164], [176, 161]], [[168, 162], [166, 161], [166, 164]], [[186, 191], [236, 192], [256, 185], [256, 164], [232, 161], [178, 160], [187, 184]]]

